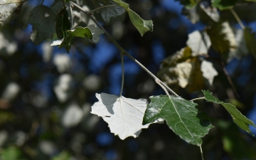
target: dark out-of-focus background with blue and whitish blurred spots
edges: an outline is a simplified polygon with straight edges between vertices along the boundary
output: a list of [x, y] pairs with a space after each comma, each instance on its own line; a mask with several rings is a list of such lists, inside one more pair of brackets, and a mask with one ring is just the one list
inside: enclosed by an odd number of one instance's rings
[[[154, 32], [141, 37], [127, 14], [111, 18], [110, 23], [105, 23], [100, 14], [96, 13], [95, 17], [125, 50], [154, 74], [159, 71], [161, 60], [186, 46], [188, 33], [206, 26], [202, 22], [192, 24], [183, 16], [183, 6], [178, 1], [127, 0], [127, 3], [142, 18], [154, 21]], [[27, 19], [29, 11], [39, 4], [41, 1], [28, 0], [14, 21], [0, 26], [1, 159], [201, 159], [198, 146], [184, 142], [166, 124], [151, 124], [137, 139], [121, 140], [110, 133], [106, 122], [90, 114], [90, 107], [97, 101], [95, 92], [119, 95], [122, 80], [119, 51], [105, 35], [96, 44], [77, 38], [70, 53], [50, 46], [51, 40], [35, 46]], [[53, 7], [55, 1], [45, 0], [43, 4]], [[86, 4], [94, 9], [92, 1]], [[251, 16], [256, 14], [248, 7], [238, 6], [238, 16], [245, 26], [256, 31], [256, 16]], [[234, 29], [240, 28], [230, 13], [223, 11], [221, 16]], [[256, 123], [255, 59], [250, 54], [233, 58], [225, 68], [240, 98], [234, 99], [220, 67], [216, 68], [218, 76], [213, 86], [206, 89], [220, 100], [235, 103]], [[124, 97], [149, 100], [151, 95], [165, 94], [127, 57], [124, 57], [124, 76]], [[202, 96], [200, 92], [191, 94], [181, 88], [178, 95], [187, 100]], [[219, 105], [198, 103], [201, 110], [216, 119], [215, 128], [203, 138], [205, 159], [256, 159], [255, 137], [238, 129]], [[255, 128], [250, 129], [256, 134]]]

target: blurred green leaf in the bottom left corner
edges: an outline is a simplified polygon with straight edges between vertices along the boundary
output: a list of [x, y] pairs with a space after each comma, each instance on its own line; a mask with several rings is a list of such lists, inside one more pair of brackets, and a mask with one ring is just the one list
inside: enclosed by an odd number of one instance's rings
[[1, 160], [24, 160], [21, 149], [16, 146], [9, 146], [1, 151]]

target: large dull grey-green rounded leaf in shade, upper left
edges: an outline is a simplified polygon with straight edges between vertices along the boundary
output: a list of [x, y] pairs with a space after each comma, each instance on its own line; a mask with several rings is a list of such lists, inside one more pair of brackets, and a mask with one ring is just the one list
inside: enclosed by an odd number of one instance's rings
[[55, 14], [48, 6], [36, 6], [32, 9], [28, 18], [28, 23], [33, 26], [31, 40], [36, 45], [42, 43], [48, 38], [53, 38], [55, 31]]

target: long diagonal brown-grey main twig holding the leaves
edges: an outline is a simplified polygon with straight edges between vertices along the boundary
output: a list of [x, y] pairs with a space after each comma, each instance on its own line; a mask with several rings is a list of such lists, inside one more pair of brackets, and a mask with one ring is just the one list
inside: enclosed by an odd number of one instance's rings
[[[156, 75], [154, 75], [153, 73], [151, 73], [147, 68], [144, 67], [144, 65], [142, 65], [142, 63], [139, 63], [138, 60], [136, 60], [134, 57], [132, 57], [132, 55], [130, 55], [129, 53], [127, 53], [127, 51], [125, 51], [121, 46], [119, 46], [119, 44], [117, 43], [117, 41], [114, 40], [114, 38], [110, 35], [110, 33], [108, 33], [105, 28], [103, 28], [100, 23], [97, 22], [97, 20], [92, 16], [90, 11], [85, 11], [84, 9], [82, 9], [82, 7], [78, 6], [78, 4], [75, 4], [73, 1], [70, 1], [70, 4], [73, 4], [75, 7], [77, 7], [78, 9], [80, 9], [80, 11], [82, 11], [83, 13], [87, 14], [87, 16], [89, 16], [90, 19], [92, 19], [92, 21], [94, 21], [97, 26], [99, 26], [99, 28], [101, 28], [106, 36], [108, 38], [110, 38], [110, 41], [112, 41], [112, 43], [114, 43], [115, 46], [117, 46], [117, 48], [120, 50], [120, 52], [124, 55], [127, 55], [131, 60], [133, 60], [135, 63], [137, 63], [137, 65], [139, 65], [143, 70], [146, 71], [146, 73], [148, 73], [149, 75], [151, 75], [152, 78], [154, 78], [154, 80], [159, 80], [159, 78], [156, 77]], [[172, 94], [178, 96], [176, 94], [176, 92], [174, 92], [173, 90], [171, 90], [171, 88], [169, 88], [167, 85], [164, 84], [164, 82], [161, 82], [161, 80], [159, 80], [159, 82], [162, 84], [162, 86], [164, 85], [164, 87], [166, 87]], [[158, 83], [159, 84], [159, 83]], [[161, 86], [161, 87], [162, 87]], [[178, 96], [179, 97], [179, 96]]]

